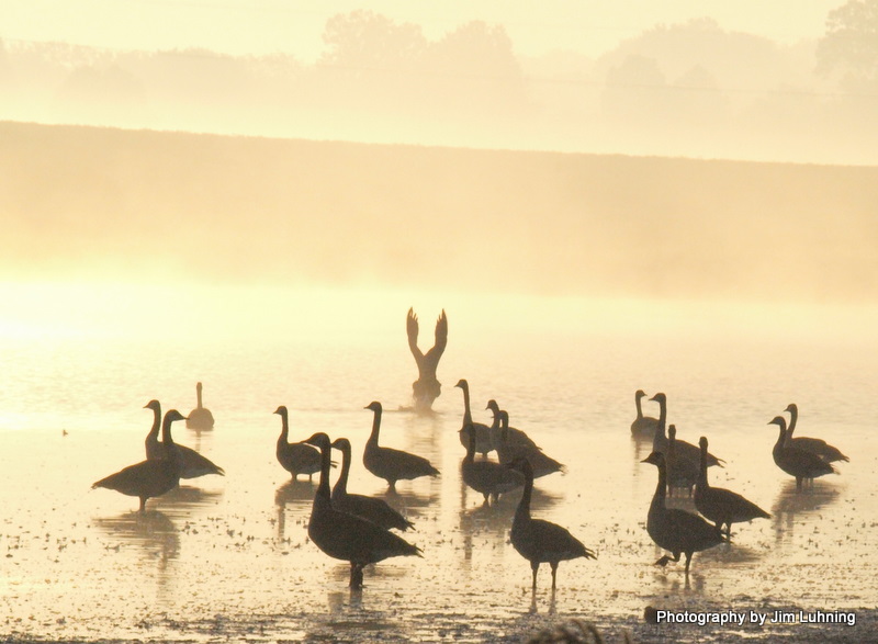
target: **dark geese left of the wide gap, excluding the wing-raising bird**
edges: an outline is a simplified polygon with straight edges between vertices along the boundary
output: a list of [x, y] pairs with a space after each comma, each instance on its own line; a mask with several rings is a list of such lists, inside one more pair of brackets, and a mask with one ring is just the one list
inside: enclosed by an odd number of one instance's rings
[[[509, 427], [509, 415], [499, 408], [496, 400], [489, 400], [486, 407], [494, 417], [491, 426], [473, 421], [469, 384], [461, 380], [455, 386], [462, 389], [464, 402], [460, 429], [460, 440], [466, 450], [461, 463], [463, 481], [484, 496], [486, 505], [496, 502], [503, 494], [521, 490], [521, 499], [513, 519], [510, 541], [515, 550], [530, 563], [532, 588], [537, 588], [540, 564], [547, 563], [552, 570], [554, 589], [560, 562], [576, 557], [596, 557], [590, 549], [566, 529], [531, 517], [533, 479], [563, 472], [564, 466], [545, 455], [527, 433]], [[92, 488], [102, 487], [137, 497], [139, 511], [145, 512], [148, 499], [170, 492], [179, 485], [181, 478], [207, 474], [225, 475], [222, 467], [173, 440], [171, 426], [175, 421], [210, 415], [210, 410], [202, 405], [201, 383], [196, 391], [198, 407], [188, 417], [177, 409], [166, 411], [162, 417], [158, 400], [147, 403], [144, 408], [153, 411], [153, 425], [145, 440], [146, 460], [95, 482]], [[373, 414], [372, 431], [363, 449], [363, 465], [367, 471], [384, 479], [389, 490], [395, 490], [398, 481], [439, 476], [439, 471], [427, 459], [379, 444], [382, 405], [373, 402], [365, 409]], [[308, 520], [308, 538], [330, 557], [350, 564], [351, 588], [362, 587], [363, 568], [369, 564], [394, 556], [421, 556], [419, 547], [393, 532], [413, 529], [408, 519], [382, 498], [353, 494], [347, 489], [352, 461], [348, 439], [331, 440], [326, 433], [317, 432], [305, 440], [290, 442], [286, 407], [278, 407], [274, 414], [281, 417], [281, 432], [275, 448], [278, 462], [293, 478], [300, 475], [312, 478], [314, 474], [319, 474]], [[212, 416], [210, 420], [212, 426]], [[341, 453], [341, 471], [330, 490], [333, 450]], [[480, 459], [475, 457], [476, 452], [481, 454]], [[496, 461], [488, 457], [491, 452], [497, 453]]]

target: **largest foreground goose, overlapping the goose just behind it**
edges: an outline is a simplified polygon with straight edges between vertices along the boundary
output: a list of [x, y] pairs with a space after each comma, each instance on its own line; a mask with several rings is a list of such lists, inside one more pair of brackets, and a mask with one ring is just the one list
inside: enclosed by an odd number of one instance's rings
[[363, 567], [369, 564], [394, 556], [423, 556], [419, 547], [394, 532], [336, 509], [329, 494], [329, 437], [317, 432], [302, 442], [320, 450], [320, 482], [311, 507], [308, 538], [330, 557], [350, 562], [351, 588], [362, 588]]

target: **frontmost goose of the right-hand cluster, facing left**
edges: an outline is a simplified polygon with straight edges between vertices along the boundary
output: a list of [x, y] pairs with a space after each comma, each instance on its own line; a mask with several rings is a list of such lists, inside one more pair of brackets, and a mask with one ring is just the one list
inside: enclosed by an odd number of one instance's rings
[[674, 557], [662, 556], [655, 565], [666, 566], [668, 562], [679, 561], [679, 555], [686, 555], [686, 577], [689, 576], [689, 564], [693, 554], [728, 542], [719, 528], [714, 528], [701, 517], [685, 510], [665, 507], [665, 488], [667, 486], [667, 470], [665, 455], [653, 450], [642, 463], [651, 463], [658, 467], [658, 485], [650, 504], [650, 513], [646, 516], [646, 532], [650, 538], [664, 550], [671, 551]]

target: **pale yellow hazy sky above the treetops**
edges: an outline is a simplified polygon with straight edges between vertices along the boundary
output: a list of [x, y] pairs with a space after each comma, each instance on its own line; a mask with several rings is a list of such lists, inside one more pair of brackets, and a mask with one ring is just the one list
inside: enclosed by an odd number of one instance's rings
[[435, 39], [472, 20], [503, 23], [525, 56], [573, 49], [597, 56], [656, 24], [711, 16], [729, 31], [781, 43], [820, 37], [844, 0], [3, 0], [0, 38], [121, 49], [204, 47], [234, 55], [320, 53], [327, 18], [368, 8], [414, 22]]

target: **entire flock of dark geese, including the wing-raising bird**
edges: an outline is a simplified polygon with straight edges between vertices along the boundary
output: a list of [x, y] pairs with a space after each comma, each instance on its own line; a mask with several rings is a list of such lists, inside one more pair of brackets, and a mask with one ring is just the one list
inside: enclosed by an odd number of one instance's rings
[[[413, 336], [415, 340], [417, 338], [417, 318], [412, 310], [408, 313], [407, 328], [412, 343]], [[444, 347], [447, 329], [448, 321], [442, 312], [437, 323], [437, 342], [441, 348]], [[432, 359], [428, 368], [424, 366], [424, 359], [418, 361], [420, 381], [435, 380], [438, 354], [441, 351], [428, 352], [427, 355]], [[492, 425], [473, 420], [468, 382], [460, 380], [455, 387], [463, 394], [463, 418], [459, 431], [461, 444], [465, 449], [461, 462], [463, 482], [483, 495], [487, 506], [496, 502], [500, 495], [521, 490], [510, 528], [510, 542], [530, 564], [532, 589], [537, 588], [540, 564], [545, 563], [552, 572], [554, 590], [560, 562], [578, 557], [596, 558], [595, 552], [566, 529], [531, 517], [534, 479], [563, 472], [564, 465], [547, 455], [526, 432], [510, 427], [508, 413], [494, 399], [488, 400], [485, 407], [493, 415]], [[414, 388], [416, 396], [419, 393], [423, 396], [421, 392], [426, 387], [419, 384]], [[438, 381], [430, 391], [438, 395]], [[213, 416], [202, 405], [201, 383], [198, 383], [196, 394], [198, 406], [188, 417], [176, 409], [166, 411], [162, 417], [158, 400], [147, 403], [145, 408], [153, 411], [153, 425], [145, 441], [146, 460], [95, 482], [92, 487], [137, 497], [139, 511], [145, 512], [149, 498], [170, 492], [179, 485], [180, 478], [224, 475], [222, 467], [173, 440], [171, 425], [177, 420], [187, 420], [187, 426], [193, 428], [213, 427]], [[631, 423], [631, 433], [635, 438], [652, 439], [652, 452], [642, 462], [655, 465], [658, 471], [657, 485], [646, 518], [646, 532], [661, 549], [671, 553], [656, 561], [656, 565], [679, 562], [680, 556], [685, 555], [685, 573], [688, 577], [693, 555], [729, 542], [732, 523], [769, 518], [769, 515], [740, 494], [711, 486], [708, 481], [709, 467], [722, 467], [724, 461], [709, 452], [706, 437], [699, 439], [698, 445], [677, 438], [675, 426], [666, 425], [667, 397], [664, 393], [650, 398], [658, 404], [658, 417], [644, 416], [642, 399], [645, 396], [642, 389], [638, 389], [634, 395], [637, 417]], [[391, 492], [395, 490], [399, 481], [439, 476], [439, 471], [427, 459], [379, 444], [381, 403], [373, 402], [364, 408], [373, 415], [372, 431], [362, 457], [367, 471], [384, 479]], [[791, 404], [786, 411], [790, 414], [789, 423], [783, 416], [777, 416], [769, 422], [779, 429], [773, 455], [777, 466], [793, 476], [797, 489], [801, 490], [802, 486], [812, 486], [814, 478], [836, 472], [832, 463], [848, 459], [824, 440], [793, 438], [798, 408]], [[308, 520], [308, 538], [328, 556], [350, 564], [351, 588], [362, 587], [363, 568], [369, 564], [395, 556], [421, 556], [419, 547], [393, 532], [413, 529], [410, 521], [386, 500], [353, 494], [347, 489], [352, 460], [348, 439], [331, 440], [326, 433], [317, 432], [305, 440], [290, 442], [286, 407], [278, 407], [274, 414], [281, 417], [281, 432], [275, 450], [278, 462], [294, 479], [300, 475], [312, 478], [314, 474], [319, 474]], [[341, 453], [341, 470], [330, 489], [333, 450]], [[496, 460], [489, 456], [492, 452], [496, 453]], [[667, 507], [667, 497], [680, 490], [685, 490], [694, 499], [698, 515]]]

